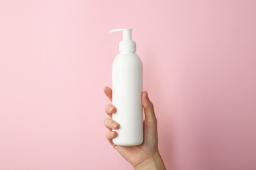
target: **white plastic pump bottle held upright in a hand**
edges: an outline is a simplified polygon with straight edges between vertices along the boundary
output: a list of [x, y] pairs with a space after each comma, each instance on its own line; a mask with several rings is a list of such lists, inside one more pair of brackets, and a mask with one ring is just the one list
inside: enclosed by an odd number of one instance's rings
[[136, 44], [131, 39], [132, 29], [123, 31], [123, 41], [119, 42], [119, 54], [112, 65], [112, 104], [116, 107], [113, 120], [119, 124], [117, 137], [113, 143], [134, 146], [143, 143], [142, 61], [135, 54]]

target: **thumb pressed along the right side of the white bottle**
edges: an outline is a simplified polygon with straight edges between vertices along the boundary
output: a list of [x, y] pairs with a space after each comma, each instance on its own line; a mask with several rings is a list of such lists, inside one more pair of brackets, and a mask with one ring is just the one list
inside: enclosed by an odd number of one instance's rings
[[142, 105], [144, 107], [145, 123], [150, 123], [151, 126], [156, 126], [156, 114], [154, 112], [153, 103], [148, 98], [148, 92], [142, 92]]

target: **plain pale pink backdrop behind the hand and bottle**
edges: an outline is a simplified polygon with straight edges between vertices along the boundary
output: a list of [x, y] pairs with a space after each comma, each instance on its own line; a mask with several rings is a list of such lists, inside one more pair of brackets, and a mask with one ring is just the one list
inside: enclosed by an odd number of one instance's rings
[[256, 3], [0, 1], [0, 169], [132, 169], [105, 139], [132, 27], [167, 169], [256, 169]]

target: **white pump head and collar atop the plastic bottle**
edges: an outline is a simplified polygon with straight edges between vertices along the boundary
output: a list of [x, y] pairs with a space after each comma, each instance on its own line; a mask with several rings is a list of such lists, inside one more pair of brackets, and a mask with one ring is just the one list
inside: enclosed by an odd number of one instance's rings
[[136, 43], [131, 39], [131, 30], [131, 28], [110, 30], [110, 33], [123, 31], [123, 40], [119, 42], [119, 52], [136, 52]]

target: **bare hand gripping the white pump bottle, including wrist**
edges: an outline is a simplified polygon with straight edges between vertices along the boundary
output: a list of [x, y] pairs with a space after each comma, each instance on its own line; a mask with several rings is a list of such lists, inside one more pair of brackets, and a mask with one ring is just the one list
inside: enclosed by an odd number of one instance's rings
[[[106, 96], [112, 101], [112, 89], [104, 88]], [[117, 136], [116, 131], [119, 124], [112, 120], [112, 114], [116, 112], [116, 107], [112, 104], [106, 105], [106, 113], [110, 118], [106, 118], [104, 125], [109, 129], [106, 133], [108, 142], [125, 158], [129, 161], [135, 169], [165, 169], [163, 160], [161, 159], [158, 150], [158, 129], [157, 120], [154, 112], [154, 107], [147, 92], [142, 92], [142, 106], [144, 109], [144, 142], [138, 146], [118, 146], [113, 143], [112, 139]]]

